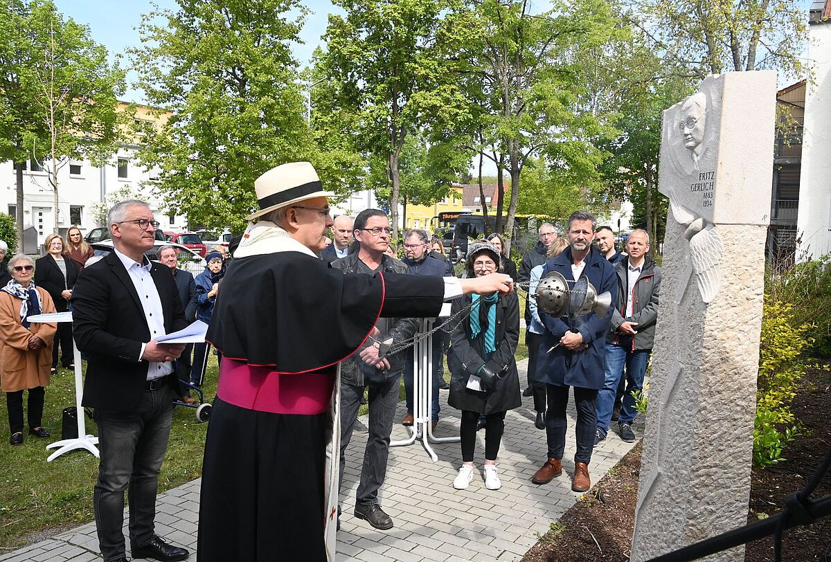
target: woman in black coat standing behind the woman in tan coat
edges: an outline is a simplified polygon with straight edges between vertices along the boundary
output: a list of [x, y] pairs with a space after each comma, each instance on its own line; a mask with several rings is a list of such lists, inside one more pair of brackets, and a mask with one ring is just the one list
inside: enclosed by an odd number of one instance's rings
[[[78, 278], [78, 266], [71, 257], [64, 257], [60, 234], [47, 236], [43, 246], [48, 253], [35, 261], [35, 285], [47, 290], [57, 312], [66, 312], [72, 297], [72, 287]], [[71, 323], [59, 322], [57, 325], [55, 345], [52, 346], [52, 374], [57, 373], [58, 344], [61, 344], [61, 364], [64, 369], [71, 369], [75, 364]]]

